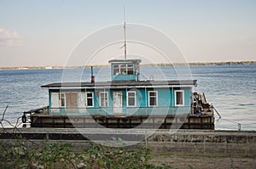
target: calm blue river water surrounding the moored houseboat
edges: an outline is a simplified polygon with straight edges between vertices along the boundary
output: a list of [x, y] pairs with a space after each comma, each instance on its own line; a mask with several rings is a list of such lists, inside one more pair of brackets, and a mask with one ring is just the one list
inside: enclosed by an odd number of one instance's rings
[[[205, 93], [222, 118], [216, 129], [256, 130], [256, 65], [143, 67], [141, 79], [197, 79], [195, 91]], [[108, 68], [95, 69], [96, 81], [109, 81]], [[178, 75], [177, 75], [178, 72]], [[90, 70], [0, 70], [0, 114], [15, 124], [25, 110], [48, 105], [48, 91], [41, 85], [52, 82], [88, 82]], [[217, 117], [217, 115], [216, 115]], [[217, 118], [216, 118], [217, 119]], [[4, 123], [7, 125], [7, 123]]]

